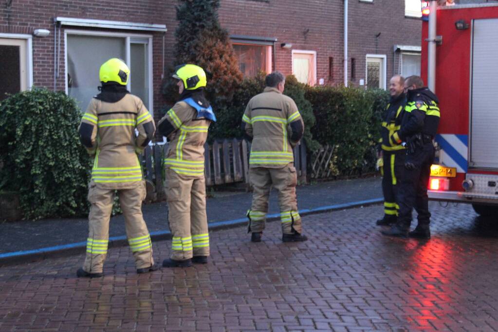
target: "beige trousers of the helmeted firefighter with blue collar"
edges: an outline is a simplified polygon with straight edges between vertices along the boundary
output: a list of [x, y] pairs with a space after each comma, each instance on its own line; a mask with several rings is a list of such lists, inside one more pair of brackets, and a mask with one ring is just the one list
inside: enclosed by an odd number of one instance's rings
[[164, 188], [168, 202], [168, 223], [173, 235], [171, 259], [209, 256], [206, 181], [166, 169]]

